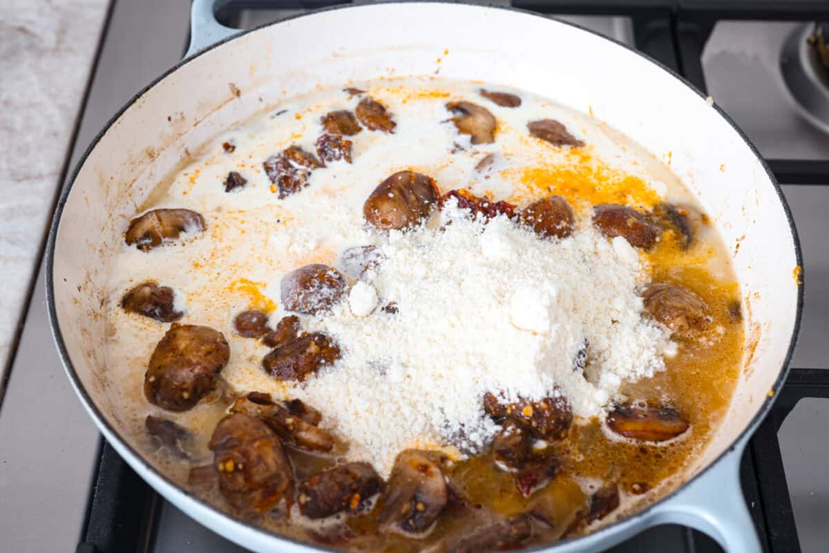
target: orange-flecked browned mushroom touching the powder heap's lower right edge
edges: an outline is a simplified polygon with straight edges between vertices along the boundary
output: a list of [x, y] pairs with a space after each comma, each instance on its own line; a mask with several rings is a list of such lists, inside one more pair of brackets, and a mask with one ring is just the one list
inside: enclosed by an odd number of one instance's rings
[[507, 418], [521, 424], [537, 439], [563, 439], [573, 422], [570, 403], [563, 395], [503, 405], [495, 395], [487, 394], [483, 408], [493, 419]]

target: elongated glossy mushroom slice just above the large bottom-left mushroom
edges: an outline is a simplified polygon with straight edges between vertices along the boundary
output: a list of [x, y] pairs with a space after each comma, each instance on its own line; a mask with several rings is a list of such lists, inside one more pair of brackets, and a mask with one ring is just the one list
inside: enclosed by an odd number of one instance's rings
[[[304, 404], [303, 404], [304, 405]], [[328, 452], [334, 448], [334, 439], [326, 430], [304, 420], [266, 394], [248, 394], [235, 400], [231, 413], [244, 413], [262, 420], [284, 441], [301, 449]]]

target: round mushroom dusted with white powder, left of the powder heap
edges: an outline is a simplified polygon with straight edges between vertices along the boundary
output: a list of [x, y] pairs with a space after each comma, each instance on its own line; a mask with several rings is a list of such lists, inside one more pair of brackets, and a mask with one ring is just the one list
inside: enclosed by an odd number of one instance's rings
[[279, 297], [288, 311], [316, 315], [342, 300], [346, 288], [340, 271], [318, 263], [286, 274], [279, 284]]

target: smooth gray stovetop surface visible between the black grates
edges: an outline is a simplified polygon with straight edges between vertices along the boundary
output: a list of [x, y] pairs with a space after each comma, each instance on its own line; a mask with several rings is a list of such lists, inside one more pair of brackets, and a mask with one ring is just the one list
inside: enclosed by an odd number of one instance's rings
[[[188, 2], [115, 1], [80, 124], [72, 165], [132, 95], [182, 55]], [[244, 27], [301, 10], [243, 12]], [[625, 17], [566, 17], [631, 43]], [[829, 138], [787, 104], [776, 51], [791, 24], [720, 23], [703, 62], [711, 95], [776, 158], [829, 158]], [[827, 183], [829, 184], [829, 183]], [[829, 187], [786, 187], [803, 246], [806, 310], [793, 366], [825, 367], [829, 331]], [[74, 551], [80, 541], [99, 434], [70, 389], [51, 343], [43, 271], [36, 284], [0, 405], [0, 550]], [[829, 400], [804, 400], [780, 430], [803, 551], [829, 543]], [[149, 551], [243, 551], [162, 503]], [[618, 551], [685, 551], [685, 531], [662, 526]]]

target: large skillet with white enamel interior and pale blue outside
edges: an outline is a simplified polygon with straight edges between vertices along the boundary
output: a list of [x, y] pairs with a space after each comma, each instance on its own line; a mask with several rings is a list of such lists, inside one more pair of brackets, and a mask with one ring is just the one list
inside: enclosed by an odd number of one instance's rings
[[[744, 294], [747, 355], [725, 423], [686, 481], [633, 516], [544, 551], [600, 551], [650, 526], [679, 523], [730, 553], [760, 551], [739, 459], [788, 371], [802, 307], [797, 234], [777, 183], [710, 101], [657, 62], [602, 36], [517, 10], [380, 3], [308, 13], [249, 32], [193, 2], [187, 58], [104, 128], [61, 194], [47, 249], [55, 342], [80, 400], [114, 449], [163, 497], [254, 551], [325, 551], [262, 531], [158, 472], [124, 430], [104, 362], [104, 282], [122, 233], [159, 178], [216, 133], [273, 102], [349, 80], [434, 75], [510, 85], [555, 99], [642, 144], [701, 201]], [[444, 51], [448, 53], [444, 54]], [[438, 65], [437, 58], [442, 58]], [[737, 247], [739, 245], [739, 248]]]

